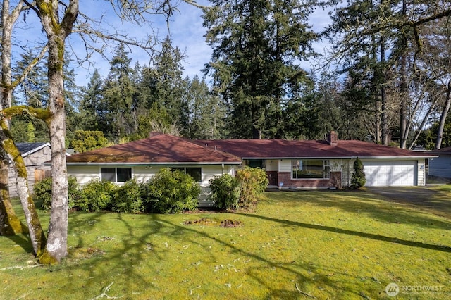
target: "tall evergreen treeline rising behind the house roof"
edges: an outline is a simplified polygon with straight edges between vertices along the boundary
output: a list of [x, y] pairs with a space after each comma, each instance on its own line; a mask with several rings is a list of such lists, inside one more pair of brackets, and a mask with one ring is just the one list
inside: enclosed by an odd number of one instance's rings
[[[103, 132], [111, 143], [152, 131], [191, 139], [323, 139], [335, 130], [340, 139], [402, 148], [451, 146], [447, 3], [440, 12], [428, 1], [421, 8], [403, 0], [351, 1], [333, 11], [320, 35], [309, 25], [314, 0], [211, 2], [203, 15], [213, 49], [203, 72], [211, 82], [183, 77], [183, 53], [169, 37], [148, 66], [130, 65], [121, 44], [109, 74], [94, 71], [86, 87], [77, 87], [66, 63], [68, 146], [78, 130]], [[319, 56], [313, 44], [320, 37], [333, 45], [323, 65], [336, 68], [315, 75], [299, 65]], [[18, 70], [30, 60], [23, 55]], [[15, 97], [47, 106], [43, 65]], [[49, 139], [45, 124], [27, 115], [13, 120], [11, 132], [16, 142]]]

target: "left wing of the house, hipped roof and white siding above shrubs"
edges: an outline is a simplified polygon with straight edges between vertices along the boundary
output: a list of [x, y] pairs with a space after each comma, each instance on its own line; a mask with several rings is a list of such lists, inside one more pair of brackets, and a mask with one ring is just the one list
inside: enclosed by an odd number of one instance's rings
[[209, 180], [215, 175], [233, 175], [241, 158], [197, 143], [152, 132], [147, 139], [74, 154], [66, 158], [68, 176], [80, 185], [90, 180], [108, 180], [118, 185], [135, 178], [144, 182], [161, 168], [173, 168], [191, 175], [203, 194], [199, 205], [206, 204]]

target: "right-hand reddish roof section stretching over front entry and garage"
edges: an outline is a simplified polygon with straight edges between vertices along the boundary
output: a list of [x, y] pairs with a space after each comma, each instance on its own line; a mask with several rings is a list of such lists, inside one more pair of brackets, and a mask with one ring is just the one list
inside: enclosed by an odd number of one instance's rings
[[216, 139], [199, 144], [225, 151], [241, 158], [416, 158], [425, 153], [382, 146], [362, 141], [338, 140], [331, 146], [326, 141], [286, 139]]

